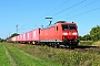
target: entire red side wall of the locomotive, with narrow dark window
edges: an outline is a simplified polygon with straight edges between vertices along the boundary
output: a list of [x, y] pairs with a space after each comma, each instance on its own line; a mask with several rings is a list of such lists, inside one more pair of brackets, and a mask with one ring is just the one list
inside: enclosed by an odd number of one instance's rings
[[40, 31], [41, 42], [61, 42], [61, 26], [53, 25]]

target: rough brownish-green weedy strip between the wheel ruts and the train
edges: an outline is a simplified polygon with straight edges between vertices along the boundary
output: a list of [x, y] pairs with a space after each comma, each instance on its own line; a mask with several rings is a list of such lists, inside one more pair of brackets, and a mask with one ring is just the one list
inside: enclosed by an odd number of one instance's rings
[[76, 51], [76, 50], [58, 50], [48, 46], [34, 46], [34, 45], [14, 45], [18, 48], [26, 51], [27, 53], [34, 55], [37, 57], [41, 57], [46, 63], [52, 63], [58, 66], [80, 66], [80, 65], [93, 65], [97, 66], [100, 64], [100, 56], [98, 55], [99, 52], [92, 51]]

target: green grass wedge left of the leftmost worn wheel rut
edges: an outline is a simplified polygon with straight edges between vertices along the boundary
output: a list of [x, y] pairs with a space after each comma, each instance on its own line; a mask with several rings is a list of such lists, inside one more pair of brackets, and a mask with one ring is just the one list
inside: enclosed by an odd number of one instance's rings
[[6, 55], [6, 51], [1, 43], [0, 43], [0, 66], [10, 66], [10, 62]]

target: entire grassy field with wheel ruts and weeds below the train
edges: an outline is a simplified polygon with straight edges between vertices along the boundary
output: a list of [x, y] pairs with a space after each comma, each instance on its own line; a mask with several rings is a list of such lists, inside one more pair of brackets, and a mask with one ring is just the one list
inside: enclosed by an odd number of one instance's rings
[[0, 66], [100, 66], [99, 50], [0, 43]]

